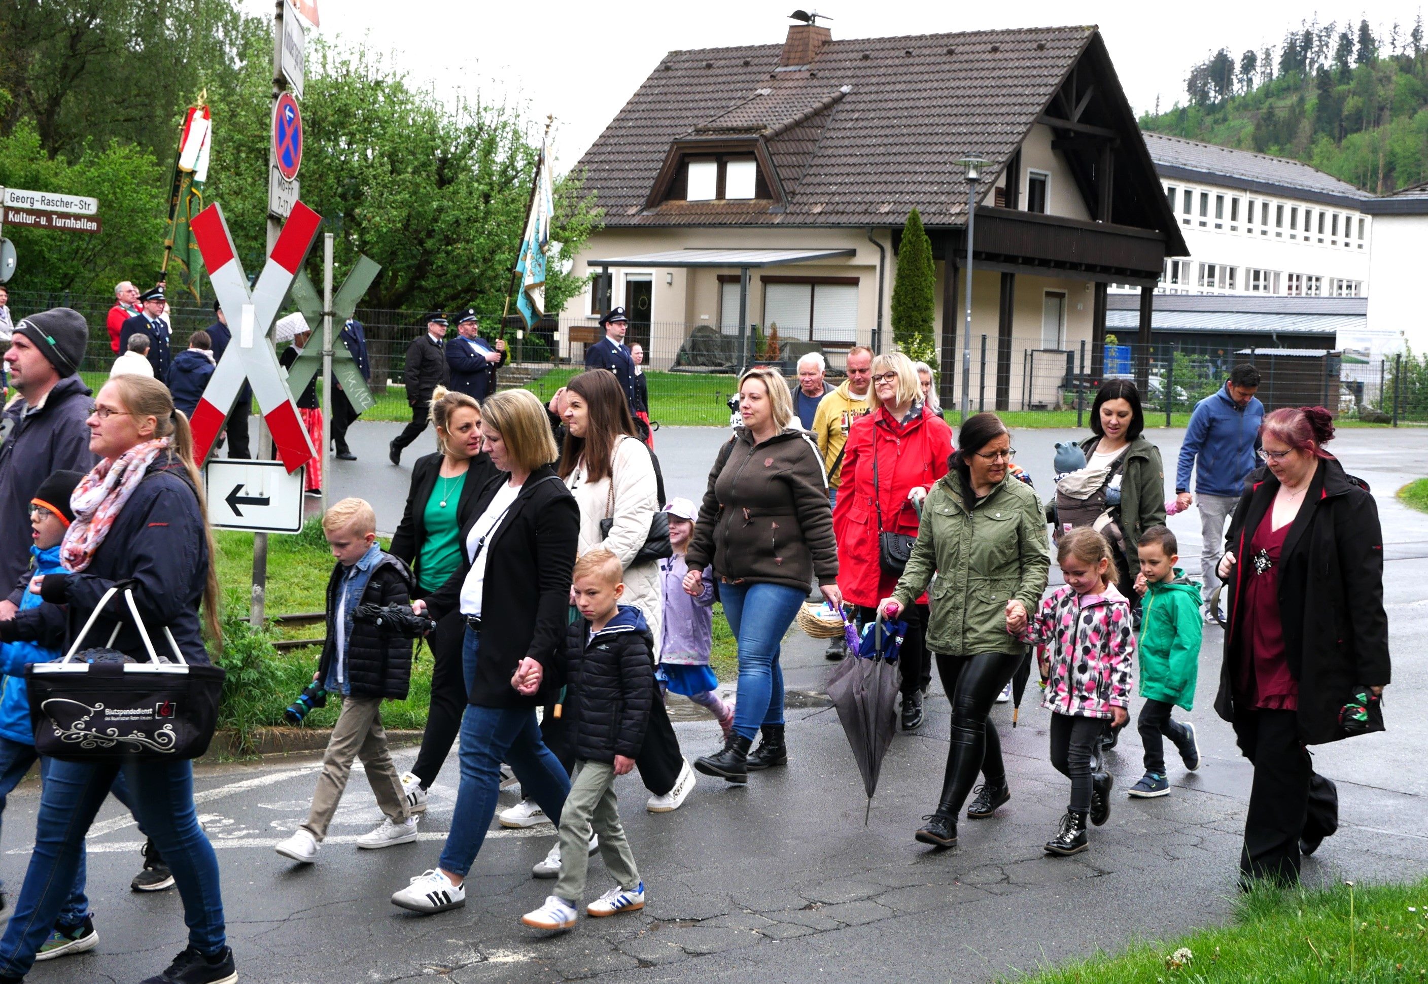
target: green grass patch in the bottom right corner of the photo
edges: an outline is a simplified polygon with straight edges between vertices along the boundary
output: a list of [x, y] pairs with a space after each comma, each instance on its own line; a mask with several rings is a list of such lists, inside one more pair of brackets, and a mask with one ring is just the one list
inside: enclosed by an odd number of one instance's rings
[[1004, 980], [1021, 984], [1424, 981], [1428, 980], [1428, 881], [1339, 885], [1314, 893], [1262, 890], [1241, 900], [1227, 927]]

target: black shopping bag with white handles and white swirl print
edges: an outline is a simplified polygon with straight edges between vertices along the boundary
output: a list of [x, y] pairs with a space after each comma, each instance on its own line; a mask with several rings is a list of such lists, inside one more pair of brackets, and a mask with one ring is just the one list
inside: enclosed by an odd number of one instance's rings
[[127, 587], [124, 600], [150, 661], [136, 663], [110, 648], [123, 623], [104, 648], [81, 651], [94, 620], [119, 590], [116, 584], [104, 593], [63, 660], [24, 668], [34, 750], [84, 763], [197, 758], [213, 740], [226, 674], [220, 667], [186, 663], [167, 626], [163, 634], [176, 661], [160, 661]]

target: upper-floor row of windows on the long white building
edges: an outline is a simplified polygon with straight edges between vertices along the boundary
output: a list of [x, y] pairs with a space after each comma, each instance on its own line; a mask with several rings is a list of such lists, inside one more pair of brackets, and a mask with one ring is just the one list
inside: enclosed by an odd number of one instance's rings
[[[1365, 248], [1368, 221], [1362, 216], [1225, 191], [1165, 186], [1171, 211], [1182, 226], [1247, 236], [1274, 236], [1315, 246]], [[1242, 213], [1242, 214], [1241, 214]]]

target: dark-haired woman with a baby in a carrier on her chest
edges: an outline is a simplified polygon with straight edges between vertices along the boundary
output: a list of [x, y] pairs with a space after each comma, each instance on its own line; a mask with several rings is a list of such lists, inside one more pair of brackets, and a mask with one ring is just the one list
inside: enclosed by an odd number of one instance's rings
[[1135, 544], [1141, 533], [1165, 523], [1165, 466], [1160, 448], [1142, 436], [1145, 413], [1141, 394], [1130, 380], [1107, 380], [1091, 404], [1091, 437], [1081, 441], [1087, 468], [1110, 471], [1107, 501], [1120, 498], [1117, 514], [1121, 543], [1114, 537], [1117, 587], [1137, 607]]

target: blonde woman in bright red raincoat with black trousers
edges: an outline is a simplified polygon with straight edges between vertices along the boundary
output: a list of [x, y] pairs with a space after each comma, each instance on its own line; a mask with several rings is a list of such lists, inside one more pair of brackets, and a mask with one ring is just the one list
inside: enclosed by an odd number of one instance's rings
[[[912, 361], [891, 353], [873, 360], [873, 413], [848, 431], [843, 454], [843, 486], [833, 510], [838, 538], [838, 588], [871, 621], [880, 600], [897, 586], [897, 573], [878, 558], [881, 530], [917, 536], [918, 513], [932, 483], [947, 474], [952, 430], [922, 403]], [[874, 464], [878, 494], [874, 497]], [[908, 613], [898, 657], [902, 668], [902, 730], [922, 724], [922, 694], [932, 680], [932, 657], [924, 646], [927, 596]]]

